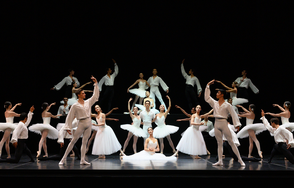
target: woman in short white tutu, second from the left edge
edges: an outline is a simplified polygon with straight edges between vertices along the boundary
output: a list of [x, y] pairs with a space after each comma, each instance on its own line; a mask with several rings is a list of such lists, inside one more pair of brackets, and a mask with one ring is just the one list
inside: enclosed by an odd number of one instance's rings
[[59, 116], [62, 116], [62, 114], [54, 116], [50, 112], [48, 112], [48, 110], [50, 109], [50, 107], [52, 105], [55, 105], [55, 102], [50, 104], [50, 106], [48, 106], [47, 102], [44, 102], [42, 104], [42, 109], [44, 110], [42, 112], [43, 123], [34, 124], [29, 127], [29, 130], [31, 132], [35, 132], [37, 134], [42, 135], [41, 140], [39, 142], [39, 151], [37, 151], [37, 157], [40, 157], [40, 155], [41, 155], [42, 146], [45, 151], [45, 155], [43, 157], [45, 157], [45, 156], [48, 157], [47, 145], [46, 145], [46, 138], [47, 137], [50, 139], [54, 139], [54, 140], [58, 138], [59, 131], [50, 125], [50, 119], [51, 119], [51, 117], [57, 118]]

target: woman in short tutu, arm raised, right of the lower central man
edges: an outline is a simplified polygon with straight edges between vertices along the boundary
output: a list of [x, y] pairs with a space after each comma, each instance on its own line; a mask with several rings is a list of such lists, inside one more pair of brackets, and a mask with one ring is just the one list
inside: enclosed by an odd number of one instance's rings
[[163, 154], [163, 148], [164, 148], [163, 138], [164, 137], [167, 137], [169, 145], [172, 147], [173, 153], [176, 153], [170, 134], [175, 133], [179, 130], [179, 128], [176, 126], [166, 125], [164, 123], [165, 119], [167, 118], [167, 114], [171, 109], [171, 99], [168, 96], [167, 98], [169, 100], [169, 106], [167, 108], [167, 111], [164, 112], [165, 107], [163, 104], [161, 104], [159, 107], [160, 113], [156, 114], [155, 118], [152, 120], [152, 122], [155, 122], [157, 124], [157, 127], [154, 129], [153, 136], [154, 138], [159, 138], [161, 154]]

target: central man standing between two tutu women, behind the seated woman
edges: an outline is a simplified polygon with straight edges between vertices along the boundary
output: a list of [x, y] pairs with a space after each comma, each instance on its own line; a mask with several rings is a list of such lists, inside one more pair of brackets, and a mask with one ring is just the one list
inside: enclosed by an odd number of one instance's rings
[[[140, 118], [143, 121], [143, 123], [141, 122], [141, 124], [143, 124], [144, 133], [146, 135], [149, 135], [148, 128], [152, 127], [151, 123], [152, 123], [152, 119], [155, 118], [155, 113], [150, 111], [150, 109], [149, 109], [150, 108], [150, 101], [148, 101], [148, 100], [145, 101], [145, 106], [146, 106], [146, 110], [144, 110], [140, 113]], [[143, 143], [144, 145], [145, 145], [145, 141], [148, 137], [149, 136], [144, 138], [144, 143]]]

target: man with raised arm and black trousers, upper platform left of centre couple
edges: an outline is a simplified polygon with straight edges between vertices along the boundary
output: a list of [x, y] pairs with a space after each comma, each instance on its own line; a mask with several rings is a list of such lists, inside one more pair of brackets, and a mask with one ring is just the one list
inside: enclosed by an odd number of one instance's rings
[[118, 74], [118, 66], [116, 65], [116, 62], [114, 59], [112, 59], [112, 61], [114, 62], [114, 73], [112, 75], [111, 72], [112, 70], [110, 68], [107, 68], [106, 71], [107, 71], [107, 74], [105, 76], [103, 76], [101, 78], [101, 80], [99, 81], [98, 83], [98, 86], [99, 86], [99, 92], [102, 91], [102, 85], [104, 83], [106, 89], [105, 89], [105, 92], [102, 96], [102, 99], [100, 100], [99, 104], [101, 104], [101, 102], [105, 102], [105, 101], [108, 101], [107, 102], [107, 112], [110, 111], [110, 108], [111, 108], [111, 102], [112, 102], [112, 99], [114, 97], [114, 78], [117, 76]]

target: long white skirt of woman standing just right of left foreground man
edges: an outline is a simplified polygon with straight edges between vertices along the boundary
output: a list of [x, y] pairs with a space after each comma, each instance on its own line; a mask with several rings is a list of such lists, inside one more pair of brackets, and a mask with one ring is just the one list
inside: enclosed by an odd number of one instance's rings
[[122, 148], [118, 142], [115, 133], [110, 126], [105, 127], [102, 131], [96, 133], [93, 144], [93, 155], [110, 155]]

